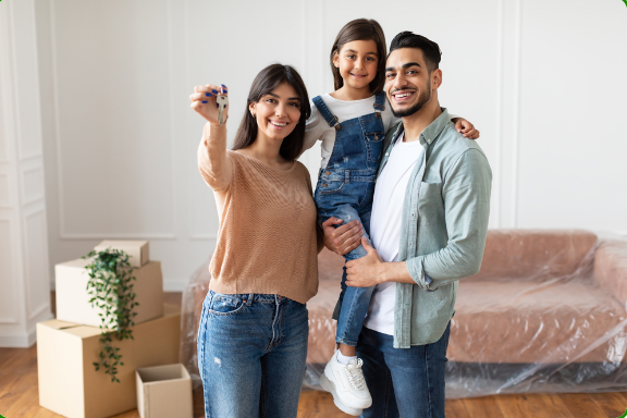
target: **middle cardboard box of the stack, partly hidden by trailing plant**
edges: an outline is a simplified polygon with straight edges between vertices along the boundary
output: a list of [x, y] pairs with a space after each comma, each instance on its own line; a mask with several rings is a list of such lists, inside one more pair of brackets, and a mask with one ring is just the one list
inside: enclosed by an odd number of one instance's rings
[[[57, 319], [61, 321], [99, 327], [102, 310], [93, 308], [87, 293], [87, 266], [90, 261], [77, 259], [54, 266], [57, 291]], [[139, 324], [163, 315], [163, 275], [161, 263], [150, 261], [146, 266], [133, 269], [134, 291], [137, 295], [134, 321]]]

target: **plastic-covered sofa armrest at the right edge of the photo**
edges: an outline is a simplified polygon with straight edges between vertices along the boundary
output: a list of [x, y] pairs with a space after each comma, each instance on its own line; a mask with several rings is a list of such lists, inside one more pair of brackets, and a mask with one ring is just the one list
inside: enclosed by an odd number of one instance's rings
[[606, 241], [594, 255], [594, 281], [627, 305], [627, 242]]

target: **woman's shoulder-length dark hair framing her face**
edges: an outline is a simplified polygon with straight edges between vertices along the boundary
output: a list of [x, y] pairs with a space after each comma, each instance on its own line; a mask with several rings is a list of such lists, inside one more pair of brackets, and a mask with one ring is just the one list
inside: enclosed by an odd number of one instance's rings
[[244, 119], [239, 124], [237, 134], [235, 134], [235, 144], [233, 149], [246, 148], [257, 139], [257, 120], [253, 118], [249, 111], [250, 103], [257, 103], [263, 96], [279, 87], [282, 83], [288, 83], [300, 99], [300, 119], [294, 131], [283, 139], [279, 153], [286, 160], [295, 160], [302, 152], [305, 143], [305, 122], [311, 114], [309, 96], [303, 78], [298, 72], [290, 66], [282, 64], [268, 65], [257, 74], [246, 101], [246, 111]]

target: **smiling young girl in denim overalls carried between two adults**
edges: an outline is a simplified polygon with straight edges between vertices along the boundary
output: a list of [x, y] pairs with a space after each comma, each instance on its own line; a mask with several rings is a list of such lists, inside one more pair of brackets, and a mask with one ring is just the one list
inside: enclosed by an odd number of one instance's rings
[[[385, 37], [379, 23], [365, 19], [347, 23], [331, 49], [335, 91], [314, 98], [305, 132], [305, 149], [322, 142], [315, 193], [318, 222], [330, 218], [344, 223], [357, 220], [368, 241], [383, 139], [388, 130], [401, 121], [385, 101]], [[478, 137], [469, 122], [456, 118], [453, 121], [464, 136]], [[359, 245], [344, 258], [348, 261], [365, 255]], [[342, 293], [333, 312], [340, 349], [328, 362], [320, 384], [333, 394], [340, 409], [358, 416], [372, 404], [361, 372], [362, 360], [356, 357], [355, 347], [374, 287], [347, 287], [345, 281], [344, 268]]]

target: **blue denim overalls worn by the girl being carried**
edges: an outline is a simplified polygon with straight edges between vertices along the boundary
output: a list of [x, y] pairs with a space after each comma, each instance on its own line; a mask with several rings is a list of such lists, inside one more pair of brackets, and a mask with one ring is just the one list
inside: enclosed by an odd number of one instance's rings
[[[321, 224], [331, 217], [340, 218], [344, 223], [359, 219], [368, 241], [374, 181], [385, 137], [381, 118], [384, 103], [385, 95], [379, 93], [374, 96], [374, 112], [337, 123], [337, 116], [331, 113], [322, 98], [314, 98], [320, 114], [330, 126], [335, 127], [333, 151], [327, 168], [320, 170], [314, 196], [318, 222]], [[365, 255], [366, 250], [360, 245], [344, 258], [348, 261]], [[373, 290], [347, 287], [344, 268], [342, 293], [333, 312], [333, 318], [337, 319], [337, 343], [357, 345]]]

